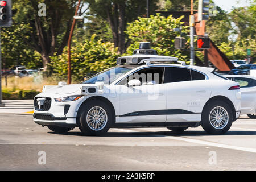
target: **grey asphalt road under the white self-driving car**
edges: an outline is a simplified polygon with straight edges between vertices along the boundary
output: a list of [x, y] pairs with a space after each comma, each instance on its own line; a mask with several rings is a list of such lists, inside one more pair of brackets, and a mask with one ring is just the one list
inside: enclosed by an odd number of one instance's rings
[[238, 119], [225, 135], [197, 127], [179, 135], [143, 128], [87, 137], [79, 129], [53, 133], [31, 115], [0, 113], [0, 170], [42, 169], [255, 170], [256, 119]]

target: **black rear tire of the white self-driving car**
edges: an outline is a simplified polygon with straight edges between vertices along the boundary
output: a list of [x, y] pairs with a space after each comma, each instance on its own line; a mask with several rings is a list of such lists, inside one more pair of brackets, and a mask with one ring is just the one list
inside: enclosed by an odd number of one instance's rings
[[[225, 112], [228, 114], [228, 119], [226, 119], [225, 124], [223, 123], [223, 126], [218, 129], [216, 128], [217, 126], [214, 127], [210, 123], [210, 118], [209, 118], [210, 112], [216, 107], [224, 108]], [[207, 106], [205, 106], [202, 113], [202, 117], [201, 117], [201, 126], [203, 127], [204, 131], [207, 132], [208, 134], [220, 135], [220, 134], [226, 133], [230, 129], [230, 127], [232, 126], [233, 120], [234, 120], [233, 113], [230, 106], [224, 101], [216, 100], [216, 101], [210, 102]]]

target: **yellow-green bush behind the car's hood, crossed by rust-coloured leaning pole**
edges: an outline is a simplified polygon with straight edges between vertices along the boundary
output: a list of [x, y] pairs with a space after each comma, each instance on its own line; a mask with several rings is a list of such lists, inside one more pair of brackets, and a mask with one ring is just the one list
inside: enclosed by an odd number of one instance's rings
[[[95, 40], [93, 35], [90, 40], [84, 43], [76, 43], [71, 47], [71, 73], [74, 81], [82, 81], [89, 73], [97, 73], [104, 69], [113, 67], [116, 63], [117, 48], [110, 42]], [[67, 79], [68, 56], [67, 48], [63, 54], [51, 57], [51, 68], [58, 76]]]

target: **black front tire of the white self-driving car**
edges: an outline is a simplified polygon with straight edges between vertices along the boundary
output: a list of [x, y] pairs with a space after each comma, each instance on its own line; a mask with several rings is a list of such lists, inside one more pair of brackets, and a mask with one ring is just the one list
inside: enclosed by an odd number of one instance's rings
[[[102, 128], [95, 128], [93, 129], [93, 126], [89, 126], [89, 123], [87, 122], [87, 115], [90, 112], [91, 109], [95, 107], [100, 107], [105, 111], [106, 115], [106, 123], [102, 126]], [[102, 135], [108, 132], [110, 126], [112, 126], [114, 115], [112, 114], [112, 110], [110, 107], [103, 101], [88, 101], [86, 105], [83, 106], [81, 116], [80, 116], [80, 126], [79, 129], [84, 133], [85, 135]]]

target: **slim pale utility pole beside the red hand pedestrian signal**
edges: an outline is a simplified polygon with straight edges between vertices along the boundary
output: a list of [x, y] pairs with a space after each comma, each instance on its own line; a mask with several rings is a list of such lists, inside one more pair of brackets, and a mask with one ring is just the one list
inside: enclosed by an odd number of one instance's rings
[[194, 60], [195, 60], [194, 25], [195, 25], [195, 16], [193, 15], [193, 0], [191, 0], [191, 15], [189, 16], [189, 26], [190, 26], [190, 65], [193, 65]]

